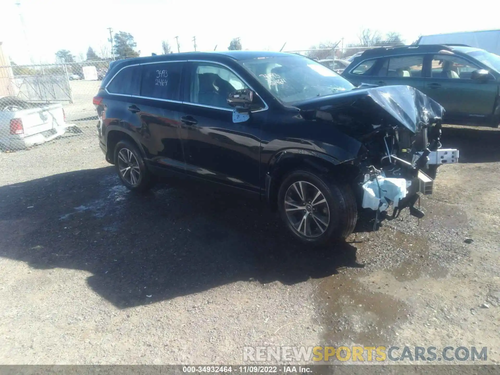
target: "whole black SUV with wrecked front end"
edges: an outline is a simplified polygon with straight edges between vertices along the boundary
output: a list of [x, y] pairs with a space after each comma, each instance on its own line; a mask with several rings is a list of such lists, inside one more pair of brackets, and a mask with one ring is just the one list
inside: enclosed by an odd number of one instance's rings
[[419, 91], [355, 87], [292, 53], [115, 61], [93, 103], [99, 145], [129, 189], [168, 175], [246, 190], [309, 243], [348, 235], [361, 207], [420, 216], [427, 174], [458, 157], [439, 148], [442, 107]]

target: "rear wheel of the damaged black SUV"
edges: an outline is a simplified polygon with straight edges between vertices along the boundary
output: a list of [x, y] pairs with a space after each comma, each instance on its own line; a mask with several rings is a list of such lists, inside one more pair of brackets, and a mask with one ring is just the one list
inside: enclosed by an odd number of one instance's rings
[[114, 166], [121, 182], [130, 190], [143, 192], [154, 184], [137, 146], [129, 140], [120, 140], [114, 147]]

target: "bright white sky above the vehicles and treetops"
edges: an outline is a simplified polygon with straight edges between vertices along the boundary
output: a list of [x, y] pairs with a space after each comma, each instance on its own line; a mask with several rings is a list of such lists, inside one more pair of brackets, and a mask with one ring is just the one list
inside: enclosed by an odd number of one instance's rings
[[193, 50], [194, 35], [197, 50], [225, 50], [233, 37], [244, 49], [279, 50], [286, 42], [284, 50], [297, 50], [342, 37], [355, 42], [363, 28], [399, 32], [407, 43], [419, 34], [500, 28], [498, 14], [497, 0], [0, 0], [0, 41], [16, 63], [29, 63], [30, 54], [52, 63], [58, 49], [109, 50], [106, 27], [130, 32], [142, 56], [160, 53], [163, 39], [176, 51], [176, 35], [180, 51]]

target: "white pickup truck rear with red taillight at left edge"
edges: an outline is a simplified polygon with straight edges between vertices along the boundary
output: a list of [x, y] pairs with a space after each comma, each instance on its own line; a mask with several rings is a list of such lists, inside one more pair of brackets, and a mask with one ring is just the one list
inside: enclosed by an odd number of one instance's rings
[[[71, 124], [72, 125], [72, 124]], [[64, 134], [60, 103], [28, 102], [13, 96], [0, 98], [0, 150], [19, 150]]]

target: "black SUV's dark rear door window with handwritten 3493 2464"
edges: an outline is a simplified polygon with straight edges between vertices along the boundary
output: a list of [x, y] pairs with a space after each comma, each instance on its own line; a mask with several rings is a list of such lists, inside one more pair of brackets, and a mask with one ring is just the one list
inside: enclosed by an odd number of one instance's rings
[[157, 99], [179, 100], [182, 62], [158, 62], [142, 66], [140, 95]]

